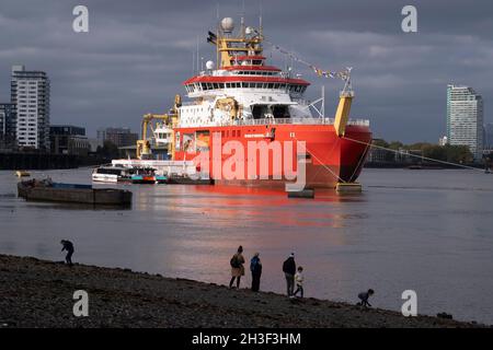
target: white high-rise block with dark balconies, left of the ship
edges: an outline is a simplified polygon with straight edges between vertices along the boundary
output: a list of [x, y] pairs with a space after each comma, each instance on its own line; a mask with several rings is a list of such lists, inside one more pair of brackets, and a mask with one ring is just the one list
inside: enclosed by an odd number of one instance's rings
[[46, 73], [12, 66], [11, 102], [16, 105], [18, 144], [49, 150], [49, 79]]

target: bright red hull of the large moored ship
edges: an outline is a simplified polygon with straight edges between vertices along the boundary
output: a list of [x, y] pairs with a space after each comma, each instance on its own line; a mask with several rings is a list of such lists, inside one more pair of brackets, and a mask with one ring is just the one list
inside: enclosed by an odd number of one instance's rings
[[[207, 173], [217, 184], [239, 186], [276, 187], [294, 182], [285, 163], [291, 162], [289, 168], [296, 174], [300, 150], [303, 151], [306, 187], [334, 188], [337, 183], [352, 183], [362, 172], [371, 142], [371, 131], [366, 125], [346, 126], [344, 137], [335, 133], [333, 125], [196, 127], [174, 131], [174, 160], [193, 160], [197, 170]], [[252, 142], [259, 148], [254, 153], [249, 152]], [[290, 147], [293, 151], [287, 152], [286, 148]], [[283, 153], [280, 170], [274, 159], [276, 149]], [[262, 155], [262, 150], [270, 151]], [[199, 161], [197, 155], [205, 158]], [[208, 160], [208, 166], [204, 159]]]

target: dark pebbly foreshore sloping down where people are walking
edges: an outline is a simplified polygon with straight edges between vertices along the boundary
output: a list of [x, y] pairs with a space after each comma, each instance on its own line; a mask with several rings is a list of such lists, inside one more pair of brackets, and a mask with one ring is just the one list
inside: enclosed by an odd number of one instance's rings
[[[73, 292], [89, 294], [76, 317]], [[474, 322], [362, 308], [160, 275], [0, 255], [0, 328], [472, 328]]]

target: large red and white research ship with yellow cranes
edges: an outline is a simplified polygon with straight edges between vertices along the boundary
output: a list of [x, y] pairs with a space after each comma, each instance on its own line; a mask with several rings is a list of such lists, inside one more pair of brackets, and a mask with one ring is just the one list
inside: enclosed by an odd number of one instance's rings
[[[255, 28], [242, 20], [236, 30], [233, 20], [226, 18], [208, 34], [216, 62], [207, 61], [204, 70], [183, 83], [187, 102], [176, 95], [170, 114], [156, 115], [165, 121], [168, 133], [161, 138], [169, 142], [170, 162], [194, 164], [216, 184], [283, 185], [293, 180], [286, 174], [289, 162], [295, 173], [303, 163], [307, 187], [354, 183], [371, 131], [368, 120], [348, 119], [354, 97], [351, 69], [329, 73], [343, 80], [344, 90], [334, 117], [328, 118], [317, 108], [314, 114], [313, 105], [303, 98], [308, 81], [293, 77], [290, 69], [268, 65], [262, 24]], [[137, 155], [146, 159], [148, 154], [149, 142], [144, 138]]]

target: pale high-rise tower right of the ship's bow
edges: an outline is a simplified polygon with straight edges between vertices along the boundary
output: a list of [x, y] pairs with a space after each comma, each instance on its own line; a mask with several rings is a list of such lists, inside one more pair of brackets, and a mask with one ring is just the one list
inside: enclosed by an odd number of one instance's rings
[[447, 141], [468, 145], [475, 160], [483, 153], [483, 98], [472, 88], [447, 86]]

